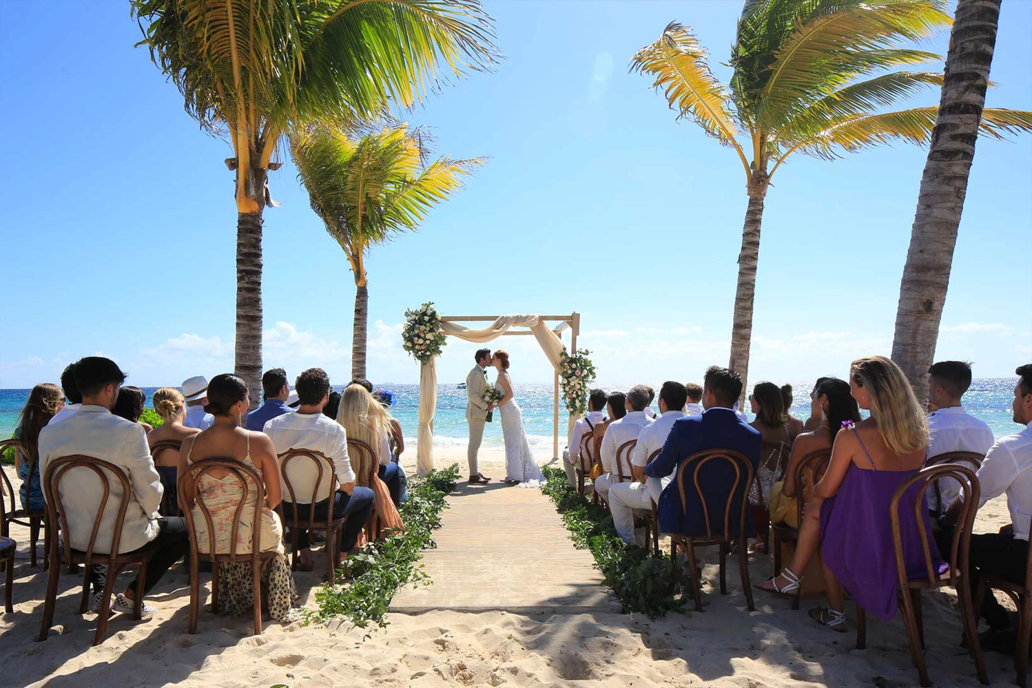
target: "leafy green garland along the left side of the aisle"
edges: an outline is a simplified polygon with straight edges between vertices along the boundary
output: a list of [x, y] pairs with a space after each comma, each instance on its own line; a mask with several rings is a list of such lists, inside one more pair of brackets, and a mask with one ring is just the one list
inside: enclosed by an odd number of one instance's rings
[[409, 483], [409, 500], [398, 509], [405, 532], [370, 543], [348, 557], [337, 569], [344, 582], [316, 592], [319, 609], [309, 612], [308, 620], [345, 618], [359, 627], [369, 622], [387, 625], [384, 615], [397, 589], [410, 581], [428, 584], [417, 562], [423, 550], [437, 547], [431, 531], [441, 527], [441, 513], [448, 507], [445, 496], [457, 483], [457, 464]]

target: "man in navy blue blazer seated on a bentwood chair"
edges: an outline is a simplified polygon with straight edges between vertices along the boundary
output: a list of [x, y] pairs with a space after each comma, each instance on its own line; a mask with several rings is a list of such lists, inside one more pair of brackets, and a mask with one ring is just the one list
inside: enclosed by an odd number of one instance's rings
[[[753, 471], [760, 464], [760, 431], [735, 415], [733, 406], [742, 393], [742, 378], [737, 372], [711, 366], [703, 381], [703, 407], [701, 416], [687, 416], [674, 422], [674, 426], [663, 446], [663, 452], [654, 461], [645, 466], [645, 474], [666, 478], [677, 470], [684, 459], [706, 449], [728, 449], [743, 454], [752, 463]], [[692, 537], [706, 535], [706, 517], [691, 479], [685, 486], [686, 509], [681, 509], [681, 493], [677, 480], [667, 486], [659, 496], [657, 512], [659, 532], [680, 533]], [[728, 492], [735, 481], [735, 472], [727, 461], [712, 461], [703, 466], [699, 483], [709, 511], [710, 526], [714, 534], [723, 530], [723, 513]], [[747, 495], [749, 486], [744, 476], [739, 481], [738, 493]], [[748, 507], [748, 501], [744, 501]], [[741, 515], [732, 510], [728, 533], [740, 536]], [[754, 537], [756, 527], [746, 516], [745, 536]]]

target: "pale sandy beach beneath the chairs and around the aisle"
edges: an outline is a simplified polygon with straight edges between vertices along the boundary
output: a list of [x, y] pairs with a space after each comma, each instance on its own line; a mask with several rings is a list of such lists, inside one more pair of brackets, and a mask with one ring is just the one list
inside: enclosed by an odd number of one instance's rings
[[[464, 453], [442, 452], [438, 465]], [[546, 462], [548, 457], [539, 457]], [[408, 464], [414, 457], [410, 457]], [[481, 470], [504, 477], [499, 452], [481, 456]], [[414, 472], [414, 466], [409, 465]], [[9, 467], [5, 468], [11, 474]], [[1003, 497], [979, 513], [976, 531], [995, 531], [1008, 520]], [[707, 552], [705, 612], [650, 621], [621, 614], [427, 612], [390, 614], [386, 628], [349, 624], [289, 626], [266, 622], [252, 636], [247, 618], [202, 612], [196, 635], [186, 633], [189, 589], [180, 567], [149, 597], [158, 608], [150, 620], [115, 617], [104, 643], [92, 648], [95, 617], [74, 614], [77, 577], [62, 576], [55, 629], [39, 632], [45, 577], [28, 565], [27, 529], [19, 540], [13, 614], [0, 617], [0, 666], [6, 686], [186, 686], [267, 688], [308, 686], [911, 686], [910, 663], [900, 620], [870, 620], [868, 649], [854, 649], [849, 610], [847, 633], [818, 627], [785, 600], [755, 593], [756, 611], [745, 609], [737, 576], [731, 594], [718, 593], [715, 552]], [[296, 574], [302, 601], [314, 608], [323, 559], [316, 571]], [[753, 582], [771, 574], [764, 556], [750, 560]], [[542, 571], [548, 576], [548, 571]], [[935, 685], [976, 686], [974, 665], [959, 646], [960, 618], [950, 592], [926, 593], [928, 664]], [[1013, 660], [986, 653], [994, 685], [1009, 685]], [[879, 679], [880, 677], [880, 679]]]

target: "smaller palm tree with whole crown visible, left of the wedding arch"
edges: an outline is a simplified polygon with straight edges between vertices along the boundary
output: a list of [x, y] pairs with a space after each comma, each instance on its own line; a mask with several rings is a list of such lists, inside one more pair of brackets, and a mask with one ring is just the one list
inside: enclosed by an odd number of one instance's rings
[[448, 157], [424, 165], [424, 133], [405, 124], [356, 135], [345, 128], [311, 126], [294, 132], [290, 152], [312, 209], [344, 249], [355, 277], [351, 375], [365, 376], [369, 248], [415, 231], [437, 203], [462, 186], [482, 158]]

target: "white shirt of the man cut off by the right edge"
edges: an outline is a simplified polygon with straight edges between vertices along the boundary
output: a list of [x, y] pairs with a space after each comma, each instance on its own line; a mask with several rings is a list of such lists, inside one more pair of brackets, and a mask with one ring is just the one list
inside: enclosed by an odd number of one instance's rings
[[980, 509], [990, 499], [1007, 493], [1007, 511], [1014, 539], [1028, 540], [1032, 517], [1032, 423], [1015, 435], [1000, 437], [978, 468]]

